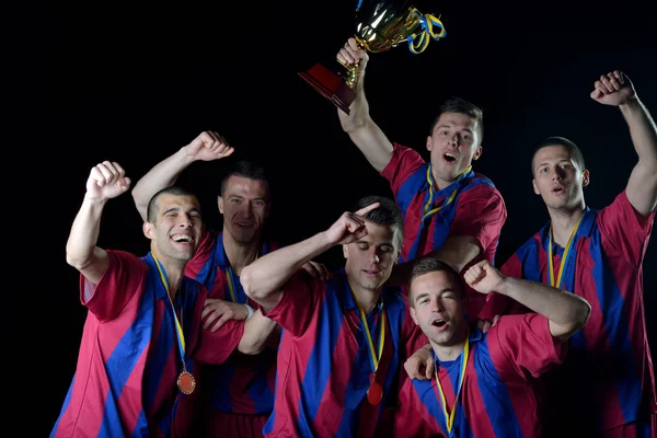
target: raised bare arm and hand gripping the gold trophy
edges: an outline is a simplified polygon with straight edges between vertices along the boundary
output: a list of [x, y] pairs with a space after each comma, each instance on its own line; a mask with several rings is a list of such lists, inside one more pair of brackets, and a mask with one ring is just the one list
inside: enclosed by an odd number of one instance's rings
[[358, 76], [356, 78], [356, 97], [349, 105], [350, 114], [337, 111], [339, 123], [351, 138], [351, 141], [365, 154], [369, 163], [381, 172], [392, 158], [392, 143], [385, 134], [371, 119], [369, 104], [365, 99], [364, 78], [365, 69], [369, 60], [366, 50], [358, 47], [356, 39], [349, 38], [337, 54], [337, 60], [343, 65], [358, 64]]

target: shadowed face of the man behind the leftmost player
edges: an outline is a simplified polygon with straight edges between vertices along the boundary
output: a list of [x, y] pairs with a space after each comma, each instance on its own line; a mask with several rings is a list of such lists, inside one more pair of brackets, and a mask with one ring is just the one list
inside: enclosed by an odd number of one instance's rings
[[269, 216], [269, 187], [261, 180], [230, 176], [219, 197], [223, 230], [239, 243], [258, 241]]

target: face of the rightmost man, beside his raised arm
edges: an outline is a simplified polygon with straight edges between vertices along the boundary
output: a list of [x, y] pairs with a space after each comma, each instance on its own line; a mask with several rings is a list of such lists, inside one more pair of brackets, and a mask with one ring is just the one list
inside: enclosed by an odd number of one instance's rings
[[583, 187], [588, 184], [588, 171], [579, 169], [564, 146], [546, 146], [537, 151], [532, 161], [534, 193], [541, 195], [551, 209], [570, 209], [584, 203]]

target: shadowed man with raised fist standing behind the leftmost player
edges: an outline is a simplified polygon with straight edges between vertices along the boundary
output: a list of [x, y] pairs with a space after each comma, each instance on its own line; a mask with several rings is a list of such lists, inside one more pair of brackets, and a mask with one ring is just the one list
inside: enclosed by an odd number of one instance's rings
[[[188, 165], [232, 153], [219, 134], [201, 132], [139, 180], [132, 197], [140, 215], [146, 216], [150, 196], [174, 184]], [[252, 161], [235, 162], [222, 175], [217, 206], [223, 228], [220, 232], [204, 228], [185, 274], [210, 291], [204, 326], [221, 334], [233, 354], [220, 366], [198, 364], [204, 384], [181, 400], [176, 430], [195, 437], [258, 437], [274, 406], [279, 330], [254, 310], [256, 304], [244, 295], [240, 275], [244, 266], [275, 246], [263, 235], [270, 208], [264, 169]]]

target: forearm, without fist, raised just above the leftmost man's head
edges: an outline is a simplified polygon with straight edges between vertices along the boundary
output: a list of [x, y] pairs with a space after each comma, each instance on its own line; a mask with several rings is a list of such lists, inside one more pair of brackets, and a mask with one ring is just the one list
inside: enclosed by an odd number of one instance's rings
[[132, 199], [141, 219], [146, 220], [148, 203], [153, 195], [162, 188], [175, 184], [180, 174], [194, 162], [194, 158], [189, 157], [185, 150], [186, 147], [183, 147], [173, 155], [158, 163], [132, 188]]

